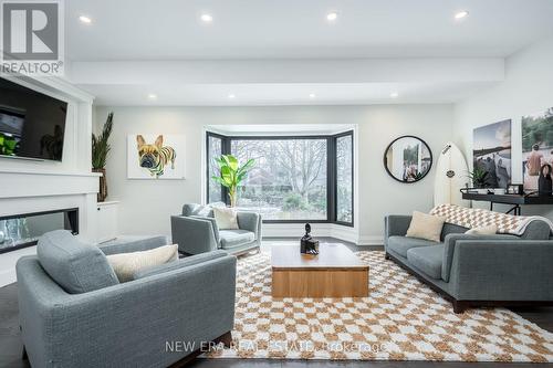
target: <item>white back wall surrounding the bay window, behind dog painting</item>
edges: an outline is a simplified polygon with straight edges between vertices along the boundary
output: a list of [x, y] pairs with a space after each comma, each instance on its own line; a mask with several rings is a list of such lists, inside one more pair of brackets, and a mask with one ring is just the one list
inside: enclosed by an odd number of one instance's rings
[[[201, 201], [206, 125], [291, 124], [293, 129], [293, 124], [356, 124], [359, 149], [356, 227], [362, 243], [382, 240], [385, 214], [429, 210], [432, 206], [434, 170], [418, 183], [395, 181], [383, 165], [387, 145], [398, 136], [416, 135], [427, 141], [436, 157], [451, 139], [453, 120], [451, 105], [97, 107], [96, 129], [111, 111], [115, 116], [107, 162], [108, 200], [121, 201], [121, 233], [169, 234], [169, 215], [179, 213], [182, 203]], [[136, 133], [186, 135], [186, 180], [126, 179], [126, 137]]]

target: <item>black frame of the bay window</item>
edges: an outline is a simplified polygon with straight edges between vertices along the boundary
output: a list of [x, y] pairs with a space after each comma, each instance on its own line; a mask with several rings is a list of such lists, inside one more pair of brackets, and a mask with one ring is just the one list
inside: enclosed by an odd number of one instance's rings
[[[336, 167], [336, 140], [337, 138], [351, 136], [352, 137], [352, 222], [338, 221], [337, 220], [337, 167]], [[211, 176], [209, 172], [209, 160], [210, 157], [208, 155], [209, 147], [209, 138], [215, 137], [221, 139], [221, 154], [230, 155], [231, 154], [231, 145], [232, 140], [284, 140], [284, 139], [313, 139], [313, 140], [326, 140], [326, 220], [263, 220], [263, 223], [335, 223], [344, 227], [354, 227], [355, 218], [354, 218], [354, 206], [355, 206], [355, 144], [354, 144], [354, 130], [346, 130], [334, 135], [254, 135], [254, 136], [227, 136], [219, 133], [206, 132], [206, 182], [209, 188], [209, 180], [211, 180]], [[206, 190], [206, 202], [210, 202], [209, 190]], [[228, 191], [227, 188], [221, 186], [221, 198], [220, 201], [229, 204]]]

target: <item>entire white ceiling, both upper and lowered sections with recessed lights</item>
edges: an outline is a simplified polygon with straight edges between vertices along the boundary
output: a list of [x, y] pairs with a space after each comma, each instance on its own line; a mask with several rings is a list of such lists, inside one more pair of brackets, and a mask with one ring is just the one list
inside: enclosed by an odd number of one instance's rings
[[[164, 62], [187, 60], [215, 60], [221, 69], [230, 60], [296, 60], [306, 70], [313, 60], [326, 59], [343, 60], [343, 67], [358, 59], [495, 60], [553, 33], [551, 0], [71, 0], [65, 8], [66, 56], [75, 65], [69, 78], [102, 105], [455, 102], [501, 78], [467, 80], [452, 69], [450, 77], [429, 82], [398, 80], [393, 71], [369, 81], [359, 75], [358, 83], [326, 81], [340, 71], [338, 62], [321, 66], [309, 78], [279, 83], [274, 80], [282, 70], [262, 65], [254, 75], [242, 73], [233, 81], [179, 82], [155, 72]], [[459, 10], [468, 10], [469, 17], [455, 20]], [[326, 20], [330, 11], [338, 13], [334, 23]], [[199, 20], [205, 12], [213, 17], [211, 24]], [[82, 14], [92, 23], [81, 23]], [[108, 67], [98, 63], [103, 61], [148, 61], [156, 77], [146, 72], [126, 80], [91, 78], [93, 64]], [[471, 67], [477, 72], [478, 65]], [[206, 73], [197, 65], [188, 71]], [[395, 91], [399, 96], [390, 98]], [[149, 93], [158, 98], [148, 101]], [[316, 98], [309, 98], [310, 93]]]

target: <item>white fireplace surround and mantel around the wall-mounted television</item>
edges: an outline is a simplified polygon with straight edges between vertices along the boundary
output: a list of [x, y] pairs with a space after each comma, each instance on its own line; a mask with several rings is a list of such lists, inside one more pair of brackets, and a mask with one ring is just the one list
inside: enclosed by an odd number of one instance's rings
[[[98, 177], [91, 172], [92, 96], [58, 78], [17, 78], [24, 86], [66, 101], [62, 162], [0, 158], [0, 217], [79, 208], [79, 230], [95, 239]], [[0, 254], [0, 286], [15, 281], [15, 263], [35, 246]]]

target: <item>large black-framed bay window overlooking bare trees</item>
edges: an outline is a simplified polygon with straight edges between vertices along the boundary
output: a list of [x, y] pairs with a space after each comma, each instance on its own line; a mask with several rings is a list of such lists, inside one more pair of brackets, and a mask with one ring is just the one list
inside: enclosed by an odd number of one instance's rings
[[265, 222], [353, 225], [353, 132], [333, 136], [232, 137], [207, 134], [207, 201], [228, 202], [213, 158], [233, 155], [255, 165], [239, 187], [238, 208]]

